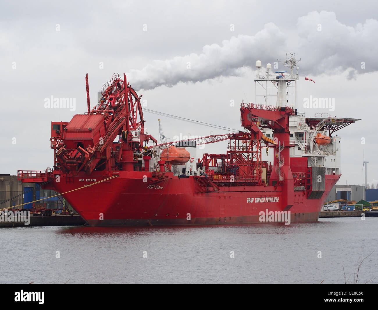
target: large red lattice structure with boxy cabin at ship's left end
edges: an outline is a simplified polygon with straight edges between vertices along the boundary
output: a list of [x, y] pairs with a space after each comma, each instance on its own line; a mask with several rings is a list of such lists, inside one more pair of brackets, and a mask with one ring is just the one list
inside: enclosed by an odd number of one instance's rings
[[[138, 97], [129, 86], [125, 74], [123, 79], [114, 74], [102, 86], [101, 98], [89, 112], [88, 75], [85, 81], [88, 114], [74, 115], [69, 123], [52, 123], [50, 140], [51, 148], [55, 150], [55, 170], [71, 171], [73, 174], [79, 171], [90, 174], [93, 170], [112, 167], [133, 170], [134, 151], [142, 151], [143, 143], [149, 140], [157, 144], [156, 139], [144, 129], [142, 96]], [[56, 130], [58, 127], [59, 130]], [[112, 143], [118, 135], [122, 137], [121, 146], [114, 150]], [[113, 155], [118, 153], [118, 156], [112, 156], [112, 152]]]

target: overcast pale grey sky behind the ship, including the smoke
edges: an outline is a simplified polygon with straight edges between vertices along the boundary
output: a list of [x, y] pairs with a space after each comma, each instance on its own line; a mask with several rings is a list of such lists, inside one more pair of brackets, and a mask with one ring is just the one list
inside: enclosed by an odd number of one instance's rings
[[[254, 102], [256, 60], [297, 53], [298, 105], [361, 120], [341, 139], [339, 184], [378, 184], [376, 79], [378, 3], [370, 1], [0, 1], [0, 174], [53, 166], [51, 121], [91, 107], [112, 75], [124, 72], [147, 108], [228, 128], [240, 127], [239, 103]], [[189, 64], [189, 65], [188, 65]], [[283, 69], [279, 67], [278, 69]], [[305, 81], [309, 77], [316, 81]], [[72, 98], [74, 109], [46, 108]], [[335, 110], [308, 108], [308, 97], [335, 98]], [[235, 106], [230, 106], [234, 100]], [[74, 111], [71, 111], [74, 110]], [[222, 129], [144, 112], [158, 137], [223, 134]], [[225, 153], [227, 142], [203, 153]]]

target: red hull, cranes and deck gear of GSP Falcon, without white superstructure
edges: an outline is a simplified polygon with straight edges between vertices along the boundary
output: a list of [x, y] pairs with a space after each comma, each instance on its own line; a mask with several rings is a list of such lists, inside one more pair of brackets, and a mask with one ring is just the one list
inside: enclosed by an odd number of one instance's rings
[[[54, 167], [18, 177], [61, 193], [91, 226], [313, 222], [340, 178], [290, 158], [293, 107], [242, 103], [245, 131], [158, 145], [125, 75], [113, 75], [93, 109], [88, 75], [86, 83], [88, 114], [51, 123]], [[189, 154], [222, 140], [226, 154]], [[262, 146], [273, 150], [273, 164], [262, 160]]]

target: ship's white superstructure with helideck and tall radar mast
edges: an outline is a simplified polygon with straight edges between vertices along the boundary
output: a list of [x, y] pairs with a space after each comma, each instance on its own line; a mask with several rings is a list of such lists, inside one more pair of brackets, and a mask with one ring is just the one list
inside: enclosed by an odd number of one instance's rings
[[[295, 54], [286, 54], [286, 59], [282, 61], [283, 66], [288, 71], [273, 72], [272, 65], [268, 63], [264, 70], [261, 61], [256, 61], [257, 73], [255, 76], [255, 103], [267, 104], [277, 107], [292, 107], [296, 115], [289, 118], [290, 157], [307, 157], [308, 167], [325, 167], [326, 174], [340, 174], [340, 139], [335, 131], [354, 123], [357, 119], [335, 118], [328, 114], [315, 115], [306, 118], [304, 113], [297, 112], [297, 80], [299, 79]], [[278, 69], [278, 60], [275, 62], [275, 69]], [[296, 73], [293, 73], [294, 67]], [[306, 78], [307, 79], [307, 78]], [[312, 81], [310, 79], [310, 81]], [[274, 139], [271, 129], [260, 128], [266, 137]], [[325, 141], [327, 142], [320, 142]], [[268, 150], [269, 151], [269, 150]], [[273, 151], [265, 154], [262, 160], [273, 162]]]

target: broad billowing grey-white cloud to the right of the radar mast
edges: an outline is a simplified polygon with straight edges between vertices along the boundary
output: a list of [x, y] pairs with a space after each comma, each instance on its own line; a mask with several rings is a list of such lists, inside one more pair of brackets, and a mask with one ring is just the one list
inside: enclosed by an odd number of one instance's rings
[[[375, 60], [378, 21], [375, 19], [347, 26], [337, 20], [334, 12], [314, 11], [299, 17], [297, 30], [299, 53], [306, 55], [306, 62], [302, 64], [304, 70], [311, 70], [313, 74], [340, 73], [347, 69], [358, 73], [378, 70]], [[361, 62], [365, 62], [366, 69], [361, 69]]]

